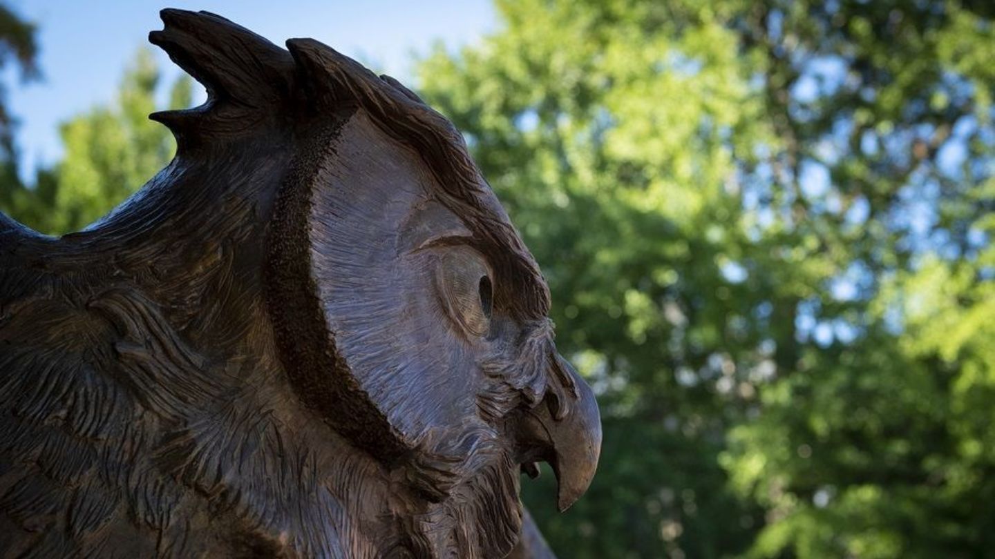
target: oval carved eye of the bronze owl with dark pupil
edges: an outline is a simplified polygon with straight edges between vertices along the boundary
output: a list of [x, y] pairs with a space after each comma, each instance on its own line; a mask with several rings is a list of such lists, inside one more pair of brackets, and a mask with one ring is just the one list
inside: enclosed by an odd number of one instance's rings
[[451, 249], [439, 263], [437, 283], [443, 306], [468, 336], [491, 331], [494, 284], [483, 257], [470, 248]]

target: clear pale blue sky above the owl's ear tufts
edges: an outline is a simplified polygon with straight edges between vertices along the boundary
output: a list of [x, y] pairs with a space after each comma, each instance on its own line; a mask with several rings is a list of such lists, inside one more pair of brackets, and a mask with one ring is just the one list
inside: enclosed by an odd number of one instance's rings
[[[16, 79], [8, 105], [20, 119], [21, 174], [60, 158], [59, 123], [95, 105], [113, 102], [125, 65], [142, 46], [153, 49], [167, 84], [182, 71], [147, 42], [162, 29], [161, 8], [206, 10], [278, 45], [310, 37], [410, 82], [412, 60], [433, 42], [448, 48], [474, 43], [497, 28], [491, 0], [13, 0], [21, 17], [38, 25], [41, 82]], [[9, 72], [9, 69], [8, 69]], [[203, 99], [200, 93], [198, 102]]]

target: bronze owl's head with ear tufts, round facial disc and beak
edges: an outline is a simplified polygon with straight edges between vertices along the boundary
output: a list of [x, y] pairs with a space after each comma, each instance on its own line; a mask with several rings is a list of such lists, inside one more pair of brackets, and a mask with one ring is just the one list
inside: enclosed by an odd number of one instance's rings
[[414, 523], [488, 522], [482, 549], [506, 553], [519, 472], [547, 462], [566, 508], [594, 474], [601, 426], [556, 349], [546, 282], [462, 135], [316, 41], [285, 50], [213, 14], [162, 18], [150, 40], [209, 98], [152, 117], [203, 169], [234, 157], [273, 177], [254, 187], [265, 239], [247, 243], [265, 251], [295, 394], [412, 489]]

